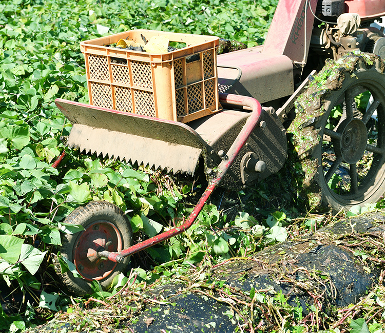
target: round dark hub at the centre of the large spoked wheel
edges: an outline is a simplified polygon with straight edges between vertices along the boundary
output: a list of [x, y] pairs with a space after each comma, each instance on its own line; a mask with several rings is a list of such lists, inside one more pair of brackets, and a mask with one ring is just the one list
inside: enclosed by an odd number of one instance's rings
[[365, 124], [361, 119], [345, 119], [337, 132], [341, 136], [333, 140], [336, 155], [341, 156], [346, 163], [357, 163], [367, 147], [368, 133]]

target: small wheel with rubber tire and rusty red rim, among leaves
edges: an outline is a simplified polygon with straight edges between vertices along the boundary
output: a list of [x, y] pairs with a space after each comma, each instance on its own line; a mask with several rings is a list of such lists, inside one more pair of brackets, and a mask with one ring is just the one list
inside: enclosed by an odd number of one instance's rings
[[99, 258], [97, 252], [101, 248], [119, 252], [132, 245], [132, 230], [127, 217], [110, 202], [92, 201], [76, 208], [64, 223], [80, 224], [84, 231], [66, 234], [62, 238], [61, 255], [73, 262], [82, 276], [74, 277], [69, 271], [60, 273], [63, 284], [77, 296], [92, 293], [93, 280], [99, 281], [103, 290], [107, 289], [113, 278], [124, 271], [129, 257], [123, 263], [115, 263]]

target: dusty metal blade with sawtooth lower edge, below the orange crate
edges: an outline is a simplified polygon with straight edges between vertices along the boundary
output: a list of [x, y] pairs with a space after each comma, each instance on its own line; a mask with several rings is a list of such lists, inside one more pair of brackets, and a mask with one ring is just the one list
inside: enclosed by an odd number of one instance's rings
[[184, 123], [56, 99], [73, 127], [67, 145], [155, 168], [194, 173], [209, 145]]

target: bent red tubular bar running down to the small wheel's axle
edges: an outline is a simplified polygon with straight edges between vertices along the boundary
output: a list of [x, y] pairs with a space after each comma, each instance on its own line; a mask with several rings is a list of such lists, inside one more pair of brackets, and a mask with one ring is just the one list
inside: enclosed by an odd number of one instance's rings
[[235, 158], [238, 156], [243, 145], [246, 143], [248, 137], [252, 134], [254, 128], [259, 122], [259, 119], [262, 113], [262, 108], [260, 103], [252, 97], [233, 95], [233, 94], [219, 94], [219, 100], [221, 103], [227, 103], [231, 105], [241, 106], [245, 109], [251, 109], [252, 113], [247, 118], [247, 121], [244, 127], [242, 128], [241, 132], [238, 134], [232, 146], [229, 148], [226, 154], [228, 159], [223, 160], [219, 164], [217, 175], [210, 180], [205, 192], [199, 199], [197, 205], [194, 207], [194, 210], [191, 212], [187, 220], [185, 220], [185, 222], [180, 226], [174, 227], [157, 236], [151, 237], [138, 244], [132, 245], [127, 249], [120, 251], [119, 253], [103, 251], [103, 253], [100, 253], [99, 256], [108, 258], [113, 262], [123, 262], [125, 257], [128, 257], [134, 253], [142, 251], [145, 248], [148, 248], [152, 245], [155, 245], [157, 243], [160, 243], [164, 240], [167, 240], [171, 237], [174, 237], [176, 235], [183, 233], [192, 225], [192, 223], [194, 223], [199, 213], [201, 212], [203, 206], [205, 205], [206, 201], [210, 197], [211, 193], [213, 193], [215, 188], [219, 185], [219, 183], [225, 176], [226, 172], [234, 162]]

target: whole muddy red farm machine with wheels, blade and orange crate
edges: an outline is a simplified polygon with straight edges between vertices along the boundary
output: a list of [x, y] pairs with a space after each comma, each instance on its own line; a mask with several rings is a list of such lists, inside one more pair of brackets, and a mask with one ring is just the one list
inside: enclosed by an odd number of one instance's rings
[[113, 45], [165, 33], [82, 42], [90, 104], [56, 100], [73, 125], [67, 145], [172, 172], [194, 174], [202, 161], [208, 186], [181, 225], [138, 244], [118, 207], [78, 207], [66, 222], [85, 230], [61, 249], [81, 276], [64, 273], [68, 288], [107, 287], [131, 254], [191, 226], [217, 186], [278, 172], [289, 134], [312, 200], [338, 211], [382, 198], [385, 35], [371, 25], [383, 15], [383, 0], [280, 0], [263, 45], [218, 57], [212, 36], [167, 33], [185, 47], [156, 54]]

